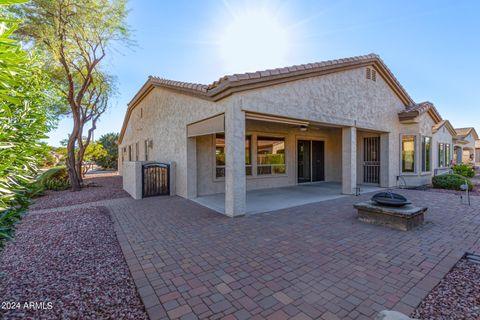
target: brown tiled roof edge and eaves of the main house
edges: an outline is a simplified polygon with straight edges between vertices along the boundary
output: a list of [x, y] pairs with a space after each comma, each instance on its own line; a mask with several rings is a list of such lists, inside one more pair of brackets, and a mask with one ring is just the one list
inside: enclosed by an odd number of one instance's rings
[[365, 66], [373, 66], [375, 68], [375, 70], [383, 77], [393, 92], [395, 92], [395, 94], [400, 98], [405, 107], [415, 104], [415, 102], [408, 95], [406, 90], [395, 78], [393, 73], [385, 65], [382, 59], [373, 53], [364, 56], [301, 64], [285, 68], [227, 75], [208, 85], [173, 81], [150, 76], [147, 82], [128, 104], [128, 110], [125, 115], [122, 130], [120, 132], [119, 141], [121, 142], [123, 139], [123, 135], [125, 133], [132, 110], [150, 91], [156, 87], [171, 89], [179, 93], [192, 95], [209, 101], [218, 101], [235, 92], [251, 90]]

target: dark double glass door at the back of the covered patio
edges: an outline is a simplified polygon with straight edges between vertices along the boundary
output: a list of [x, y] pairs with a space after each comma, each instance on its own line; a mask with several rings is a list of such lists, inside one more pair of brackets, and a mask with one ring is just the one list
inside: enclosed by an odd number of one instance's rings
[[325, 180], [325, 142], [298, 140], [298, 183]]

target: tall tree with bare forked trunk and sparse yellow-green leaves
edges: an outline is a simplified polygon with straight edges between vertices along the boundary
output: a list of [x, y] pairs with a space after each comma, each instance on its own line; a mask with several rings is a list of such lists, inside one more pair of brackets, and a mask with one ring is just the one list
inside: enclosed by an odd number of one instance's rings
[[15, 10], [24, 20], [19, 29], [22, 39], [49, 57], [49, 73], [70, 107], [73, 127], [66, 165], [73, 191], [80, 190], [81, 165], [89, 143], [83, 143], [84, 127], [90, 122], [93, 133], [106, 106], [105, 94], [110, 92], [105, 90], [109, 77], [100, 64], [115, 42], [128, 44], [126, 1], [31, 0]]

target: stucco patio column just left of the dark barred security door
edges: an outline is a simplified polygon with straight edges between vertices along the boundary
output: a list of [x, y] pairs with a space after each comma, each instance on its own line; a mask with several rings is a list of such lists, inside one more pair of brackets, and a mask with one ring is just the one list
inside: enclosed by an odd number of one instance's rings
[[342, 193], [354, 194], [357, 187], [357, 129], [342, 128]]

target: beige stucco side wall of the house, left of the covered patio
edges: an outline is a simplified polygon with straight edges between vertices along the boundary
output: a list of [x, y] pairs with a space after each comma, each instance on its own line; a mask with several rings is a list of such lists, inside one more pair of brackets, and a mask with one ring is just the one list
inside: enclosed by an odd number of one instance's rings
[[145, 160], [144, 140], [151, 139], [153, 142], [149, 150], [149, 160], [175, 161], [176, 193], [187, 197], [187, 170], [192, 168], [187, 166], [186, 126], [225, 112], [225, 105], [229, 100], [227, 98], [213, 103], [155, 88], [133, 110], [120, 148], [138, 142], [139, 160]]

